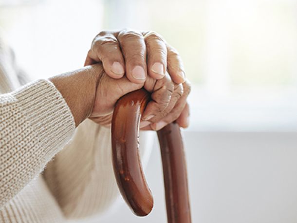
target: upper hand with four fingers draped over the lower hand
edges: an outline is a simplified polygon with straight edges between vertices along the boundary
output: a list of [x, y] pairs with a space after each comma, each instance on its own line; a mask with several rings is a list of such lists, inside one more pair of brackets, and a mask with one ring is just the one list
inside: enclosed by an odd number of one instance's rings
[[85, 66], [102, 62], [107, 75], [119, 79], [125, 73], [133, 83], [147, 76], [161, 79], [166, 71], [173, 82], [185, 82], [185, 71], [177, 51], [155, 32], [102, 31], [92, 42]]

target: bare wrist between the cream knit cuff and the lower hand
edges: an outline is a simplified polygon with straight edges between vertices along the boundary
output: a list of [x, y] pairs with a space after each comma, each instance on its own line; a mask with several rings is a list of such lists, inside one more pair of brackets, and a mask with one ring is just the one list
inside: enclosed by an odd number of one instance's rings
[[92, 113], [102, 72], [102, 65], [94, 64], [49, 78], [68, 104], [74, 116], [75, 127]]

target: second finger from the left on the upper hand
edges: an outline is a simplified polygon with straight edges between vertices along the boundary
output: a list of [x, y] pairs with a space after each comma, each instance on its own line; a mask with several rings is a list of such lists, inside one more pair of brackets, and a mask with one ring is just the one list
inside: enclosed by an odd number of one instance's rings
[[123, 30], [117, 38], [125, 58], [128, 79], [134, 83], [143, 83], [147, 77], [147, 53], [143, 35]]

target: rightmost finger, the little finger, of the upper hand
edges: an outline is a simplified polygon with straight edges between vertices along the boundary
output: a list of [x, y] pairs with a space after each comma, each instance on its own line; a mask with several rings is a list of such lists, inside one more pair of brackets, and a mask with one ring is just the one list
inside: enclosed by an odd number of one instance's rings
[[177, 83], [185, 82], [185, 70], [181, 56], [171, 46], [167, 45], [167, 70], [172, 80]]

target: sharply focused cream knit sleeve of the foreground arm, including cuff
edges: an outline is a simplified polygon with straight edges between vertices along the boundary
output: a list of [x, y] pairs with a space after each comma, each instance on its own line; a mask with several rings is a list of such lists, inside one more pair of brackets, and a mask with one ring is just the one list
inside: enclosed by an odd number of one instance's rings
[[67, 103], [48, 80], [0, 94], [0, 208], [37, 177], [74, 129]]

